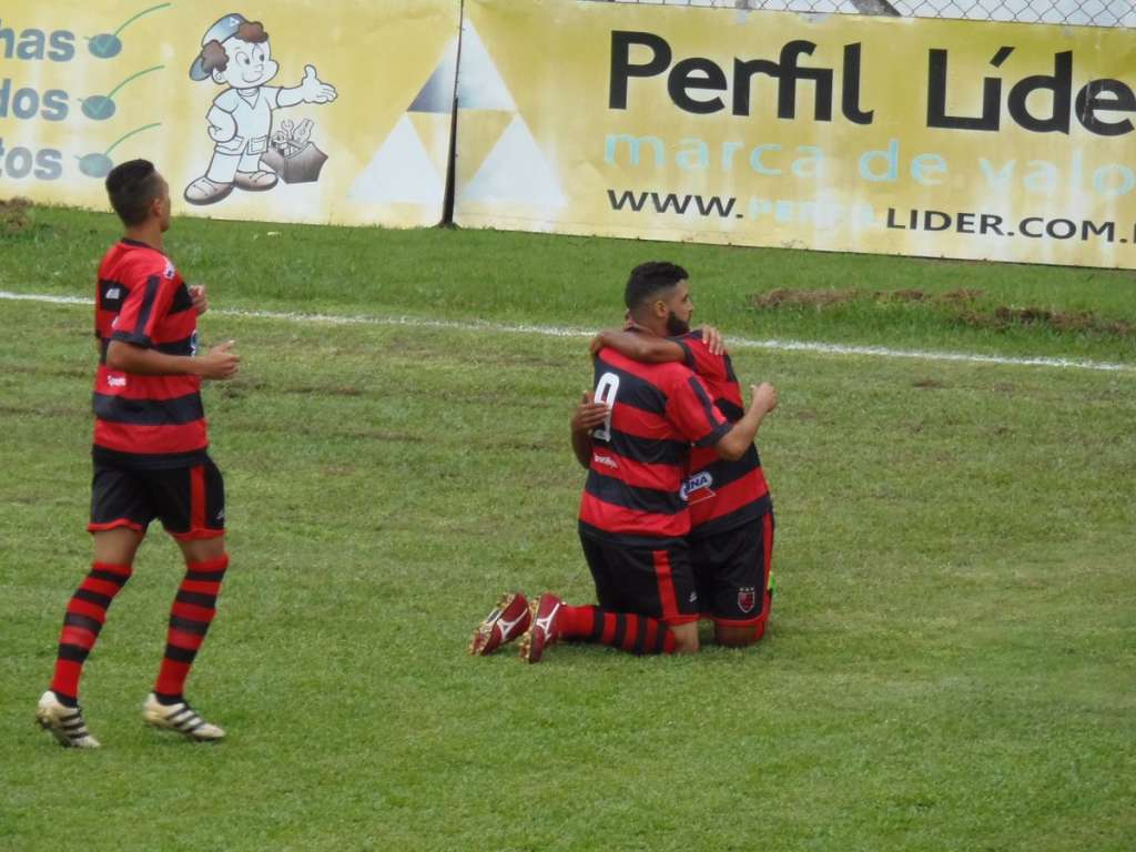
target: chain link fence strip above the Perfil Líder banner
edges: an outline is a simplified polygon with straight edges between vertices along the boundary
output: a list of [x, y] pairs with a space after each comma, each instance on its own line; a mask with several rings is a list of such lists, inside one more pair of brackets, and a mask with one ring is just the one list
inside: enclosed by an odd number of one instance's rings
[[1136, 28], [1133, 0], [615, 0], [654, 6], [715, 6], [827, 15], [902, 15], [1024, 24], [1072, 24]]

